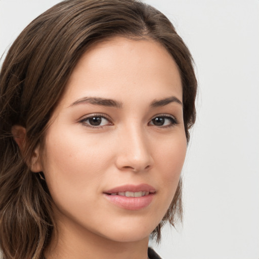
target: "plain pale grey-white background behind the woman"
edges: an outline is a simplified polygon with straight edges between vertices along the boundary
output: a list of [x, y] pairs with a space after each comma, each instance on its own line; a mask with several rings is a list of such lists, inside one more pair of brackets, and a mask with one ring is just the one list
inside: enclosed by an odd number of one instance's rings
[[[55, 0], [0, 0], [0, 53]], [[146, 0], [176, 26], [199, 81], [184, 177], [185, 218], [164, 258], [259, 258], [259, 1]]]

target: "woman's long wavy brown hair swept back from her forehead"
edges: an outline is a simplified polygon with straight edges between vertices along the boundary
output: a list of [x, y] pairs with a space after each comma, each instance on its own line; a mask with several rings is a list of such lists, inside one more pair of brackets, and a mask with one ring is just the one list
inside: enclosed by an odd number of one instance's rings
[[[152, 38], [178, 64], [187, 141], [195, 121], [197, 82], [191, 54], [174, 26], [153, 7], [135, 0], [66, 0], [33, 20], [8, 51], [0, 74], [0, 247], [5, 259], [43, 258], [55, 229], [46, 182], [30, 171], [71, 71], [90, 45], [113, 36]], [[11, 128], [26, 128], [23, 154]], [[42, 174], [42, 173], [41, 173]], [[41, 175], [42, 176], [42, 175]], [[181, 181], [152, 236], [182, 217]]]

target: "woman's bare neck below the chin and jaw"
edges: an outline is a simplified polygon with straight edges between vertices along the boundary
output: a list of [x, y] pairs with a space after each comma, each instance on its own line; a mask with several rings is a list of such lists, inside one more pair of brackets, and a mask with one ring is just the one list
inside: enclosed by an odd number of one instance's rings
[[81, 226], [57, 222], [54, 233], [45, 251], [46, 259], [147, 259], [148, 240], [119, 242], [100, 236]]

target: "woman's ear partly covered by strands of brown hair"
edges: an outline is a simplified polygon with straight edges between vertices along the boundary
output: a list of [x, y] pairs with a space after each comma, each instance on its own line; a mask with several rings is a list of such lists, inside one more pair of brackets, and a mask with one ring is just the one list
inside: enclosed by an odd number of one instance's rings
[[[13, 125], [11, 132], [12, 132], [15, 142], [17, 143], [21, 153], [23, 154], [24, 147], [25, 147], [25, 141], [26, 141], [25, 127], [23, 127], [21, 125]], [[32, 157], [30, 159], [30, 162], [27, 164], [30, 164], [30, 170], [33, 172], [42, 171], [42, 166], [41, 166], [40, 159], [39, 159], [39, 146], [37, 146], [35, 148], [35, 150], [33, 151]]]

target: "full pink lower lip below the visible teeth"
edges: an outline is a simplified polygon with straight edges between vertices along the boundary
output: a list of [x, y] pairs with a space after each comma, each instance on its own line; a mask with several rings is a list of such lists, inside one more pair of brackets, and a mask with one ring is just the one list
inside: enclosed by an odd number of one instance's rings
[[118, 207], [128, 210], [139, 210], [147, 207], [153, 200], [154, 193], [141, 197], [126, 197], [104, 194], [105, 198]]

